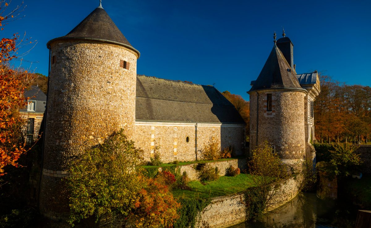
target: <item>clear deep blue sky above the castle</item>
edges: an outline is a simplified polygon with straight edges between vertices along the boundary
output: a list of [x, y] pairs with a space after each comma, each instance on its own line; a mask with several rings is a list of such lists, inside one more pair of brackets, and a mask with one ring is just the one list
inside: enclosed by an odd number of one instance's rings
[[[10, 8], [21, 2], [12, 0]], [[24, 59], [47, 75], [46, 42], [69, 33], [99, 0], [24, 2], [26, 16], [6, 25], [1, 37], [26, 31], [37, 40]], [[219, 91], [248, 100], [250, 81], [272, 50], [273, 32], [282, 37], [283, 26], [298, 73], [316, 69], [337, 81], [371, 85], [370, 0], [102, 0], [102, 6], [141, 52], [138, 74], [215, 83]]]

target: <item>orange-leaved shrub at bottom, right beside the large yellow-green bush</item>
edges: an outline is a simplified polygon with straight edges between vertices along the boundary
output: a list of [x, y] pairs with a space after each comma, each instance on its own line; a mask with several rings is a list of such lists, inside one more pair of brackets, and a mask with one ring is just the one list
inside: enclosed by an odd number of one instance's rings
[[135, 227], [173, 227], [180, 204], [162, 181], [147, 179], [128, 222]]

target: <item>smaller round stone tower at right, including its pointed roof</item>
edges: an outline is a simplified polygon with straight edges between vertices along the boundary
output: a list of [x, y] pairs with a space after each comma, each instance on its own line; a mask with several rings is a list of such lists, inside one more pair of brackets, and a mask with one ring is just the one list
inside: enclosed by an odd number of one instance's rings
[[250, 95], [250, 153], [267, 141], [286, 164], [305, 160], [303, 89], [293, 65], [293, 45], [288, 37], [275, 40], [272, 51]]

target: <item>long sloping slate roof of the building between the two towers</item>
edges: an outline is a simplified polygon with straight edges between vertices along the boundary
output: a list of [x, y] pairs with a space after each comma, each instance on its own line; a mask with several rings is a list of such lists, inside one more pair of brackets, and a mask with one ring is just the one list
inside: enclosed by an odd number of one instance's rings
[[137, 76], [137, 120], [245, 123], [215, 87]]

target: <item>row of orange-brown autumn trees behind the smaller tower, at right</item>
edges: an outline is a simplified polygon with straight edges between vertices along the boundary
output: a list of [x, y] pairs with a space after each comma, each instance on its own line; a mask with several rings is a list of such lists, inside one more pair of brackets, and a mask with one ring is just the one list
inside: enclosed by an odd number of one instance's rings
[[321, 93], [314, 103], [315, 136], [320, 143], [367, 143], [371, 131], [371, 88], [346, 85], [320, 76]]

